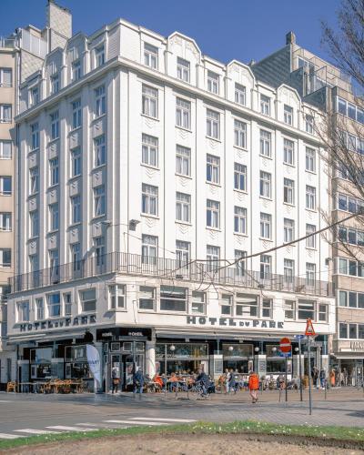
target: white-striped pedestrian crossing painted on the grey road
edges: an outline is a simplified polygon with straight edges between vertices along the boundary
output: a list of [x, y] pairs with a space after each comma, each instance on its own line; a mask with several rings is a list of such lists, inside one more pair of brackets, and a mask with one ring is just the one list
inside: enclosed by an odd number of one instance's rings
[[193, 423], [196, 420], [188, 419], [164, 419], [156, 417], [132, 417], [130, 419], [115, 419], [115, 420], [102, 420], [101, 422], [80, 422], [74, 425], [49, 425], [44, 429], [31, 429], [25, 428], [21, 430], [12, 430], [7, 433], [0, 432], [0, 440], [15, 440], [18, 438], [25, 438], [29, 436], [45, 435], [45, 434], [58, 434], [68, 431], [95, 431], [95, 430], [115, 430], [124, 429], [136, 426], [166, 426], [177, 423]]

